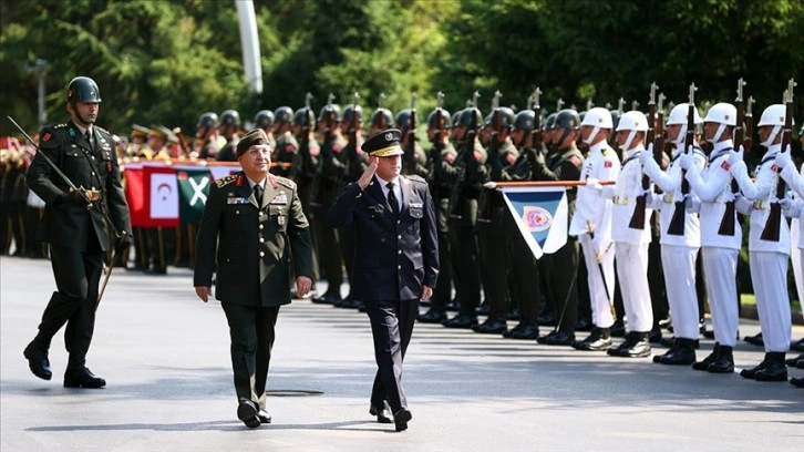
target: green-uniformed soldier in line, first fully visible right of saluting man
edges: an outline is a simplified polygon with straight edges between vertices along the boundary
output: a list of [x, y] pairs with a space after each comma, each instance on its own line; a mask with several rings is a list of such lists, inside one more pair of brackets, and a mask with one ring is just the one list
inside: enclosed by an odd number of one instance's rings
[[437, 323], [446, 319], [446, 305], [452, 298], [452, 268], [456, 265], [450, 253], [450, 181], [454, 181], [457, 170], [453, 166], [457, 152], [450, 142], [452, 119], [450, 112], [436, 107], [427, 115], [427, 138], [433, 143], [430, 148], [427, 183], [435, 204], [435, 218], [439, 236], [439, 280], [433, 289], [430, 309], [420, 315], [422, 323]]

